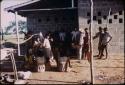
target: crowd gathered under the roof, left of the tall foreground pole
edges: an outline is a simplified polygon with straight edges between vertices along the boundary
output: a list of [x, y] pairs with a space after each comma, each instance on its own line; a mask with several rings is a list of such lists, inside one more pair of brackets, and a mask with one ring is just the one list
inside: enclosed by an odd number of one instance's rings
[[[33, 35], [32, 31], [25, 33], [25, 39]], [[40, 51], [40, 49], [43, 49]], [[45, 36], [42, 33], [37, 37], [27, 41], [27, 56], [45, 56], [46, 62], [55, 58], [58, 63], [59, 57], [68, 57], [69, 66], [70, 56], [77, 56], [82, 59], [84, 54], [86, 56], [89, 50], [89, 34], [88, 28], [84, 32], [77, 30], [61, 29], [54, 32], [47, 32]]]

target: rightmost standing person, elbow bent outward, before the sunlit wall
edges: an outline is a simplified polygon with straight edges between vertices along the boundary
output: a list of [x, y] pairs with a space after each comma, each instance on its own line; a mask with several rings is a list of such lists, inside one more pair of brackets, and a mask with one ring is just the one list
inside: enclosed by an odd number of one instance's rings
[[107, 46], [108, 46], [108, 43], [111, 41], [111, 39], [112, 39], [112, 36], [107, 32], [107, 27], [105, 27], [104, 28], [104, 34], [102, 36], [101, 52], [100, 52], [100, 55], [99, 55], [99, 59], [102, 58], [104, 50], [106, 52], [106, 59], [107, 59], [107, 57], [108, 57]]

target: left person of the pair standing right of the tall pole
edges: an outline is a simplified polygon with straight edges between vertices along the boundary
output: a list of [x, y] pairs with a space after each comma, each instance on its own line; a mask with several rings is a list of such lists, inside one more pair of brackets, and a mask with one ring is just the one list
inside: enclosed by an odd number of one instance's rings
[[[97, 32], [96, 35], [93, 37], [93, 39], [99, 38], [99, 42], [98, 42], [98, 56], [99, 56], [100, 53], [101, 53], [102, 35], [103, 35], [102, 28], [99, 27], [99, 32]], [[102, 54], [102, 56], [104, 56], [104, 55]]]

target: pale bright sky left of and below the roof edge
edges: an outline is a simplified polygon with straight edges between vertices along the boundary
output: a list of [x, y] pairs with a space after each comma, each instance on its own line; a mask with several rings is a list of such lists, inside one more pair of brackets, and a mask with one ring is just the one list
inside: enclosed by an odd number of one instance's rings
[[[29, 0], [3, 0], [2, 1], [1, 3], [1, 25], [3, 29], [9, 25], [10, 21], [15, 21], [15, 15], [11, 12], [4, 11], [4, 8], [17, 5], [23, 2], [27, 2], [27, 1]], [[18, 16], [18, 20], [26, 21], [26, 18]]]

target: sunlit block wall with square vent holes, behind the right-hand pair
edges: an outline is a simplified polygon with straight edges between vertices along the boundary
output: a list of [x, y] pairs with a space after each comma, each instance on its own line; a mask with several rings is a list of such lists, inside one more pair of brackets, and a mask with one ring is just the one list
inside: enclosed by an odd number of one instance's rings
[[[78, 0], [79, 29], [90, 26], [90, 0]], [[94, 22], [93, 35], [98, 32], [99, 26], [108, 27], [113, 39], [108, 46], [109, 55], [124, 54], [124, 5], [123, 0], [93, 0]], [[108, 19], [109, 9], [111, 15]], [[94, 54], [98, 54], [98, 39], [94, 40]]]

